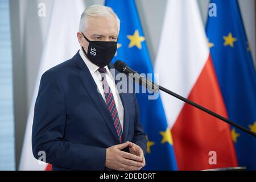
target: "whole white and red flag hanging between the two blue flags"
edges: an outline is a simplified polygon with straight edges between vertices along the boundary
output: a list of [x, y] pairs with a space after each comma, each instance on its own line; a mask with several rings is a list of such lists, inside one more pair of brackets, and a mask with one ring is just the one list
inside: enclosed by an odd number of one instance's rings
[[[160, 85], [227, 117], [196, 0], [167, 1], [155, 73]], [[179, 170], [237, 166], [228, 124], [166, 93], [161, 97]]]

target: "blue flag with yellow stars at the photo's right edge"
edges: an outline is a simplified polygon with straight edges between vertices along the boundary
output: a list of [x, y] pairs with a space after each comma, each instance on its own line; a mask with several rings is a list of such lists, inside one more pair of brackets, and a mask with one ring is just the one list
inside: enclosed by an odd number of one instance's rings
[[[217, 16], [209, 17], [210, 52], [230, 120], [256, 133], [256, 74], [236, 0], [214, 0]], [[232, 127], [238, 164], [256, 169], [256, 139]]]

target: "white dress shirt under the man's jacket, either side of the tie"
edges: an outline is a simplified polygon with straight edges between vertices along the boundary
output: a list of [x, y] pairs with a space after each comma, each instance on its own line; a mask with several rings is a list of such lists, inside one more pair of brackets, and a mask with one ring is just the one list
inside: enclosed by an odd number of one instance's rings
[[[95, 81], [98, 90], [101, 93], [101, 96], [103, 97], [104, 101], [106, 102], [106, 98], [105, 98], [105, 94], [104, 94], [104, 90], [103, 90], [103, 86], [102, 86], [102, 82], [101, 82], [101, 74], [100, 72], [98, 72], [98, 67], [96, 64], [93, 64], [92, 62], [90, 62], [87, 57], [84, 55], [84, 52], [82, 51], [82, 48], [80, 48], [80, 56], [82, 57], [82, 60], [84, 60], [84, 63], [86, 64], [86, 66], [88, 67], [90, 74], [93, 77], [93, 80]], [[106, 68], [106, 80], [110, 86], [110, 89], [112, 90], [113, 96], [114, 96], [114, 100], [115, 100], [115, 106], [117, 106], [117, 113], [118, 113], [118, 117], [119, 117], [119, 121], [121, 123], [122, 126], [122, 130], [123, 130], [123, 105], [122, 105], [122, 101], [121, 98], [119, 96], [118, 90], [115, 86], [115, 80], [112, 76], [112, 74], [109, 71], [108, 66], [105, 66], [104, 68]]]

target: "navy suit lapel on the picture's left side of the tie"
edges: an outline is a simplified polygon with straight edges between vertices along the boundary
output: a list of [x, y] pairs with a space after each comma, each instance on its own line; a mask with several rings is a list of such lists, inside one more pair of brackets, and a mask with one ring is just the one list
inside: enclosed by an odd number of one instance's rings
[[82, 85], [84, 86], [85, 90], [88, 92], [88, 95], [90, 96], [90, 98], [92, 98], [93, 103], [96, 105], [97, 109], [100, 111], [113, 137], [117, 140], [117, 142], [119, 142], [117, 132], [115, 131], [115, 127], [112, 122], [112, 116], [110, 115], [108, 107], [106, 106], [106, 102], [102, 98], [101, 94], [98, 93], [97, 85], [94, 82], [88, 67], [82, 60], [79, 53], [74, 57], [76, 57], [77, 68], [80, 69], [79, 72], [77, 73], [77, 76], [80, 78]]

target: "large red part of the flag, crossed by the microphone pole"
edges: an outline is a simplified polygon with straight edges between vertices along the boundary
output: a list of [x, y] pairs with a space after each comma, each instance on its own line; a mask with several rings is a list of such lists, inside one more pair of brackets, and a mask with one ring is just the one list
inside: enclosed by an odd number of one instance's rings
[[[210, 56], [188, 99], [227, 117]], [[171, 132], [179, 170], [201, 170], [238, 165], [230, 126], [191, 105], [183, 106]], [[209, 164], [210, 151], [216, 151], [217, 164]]]

